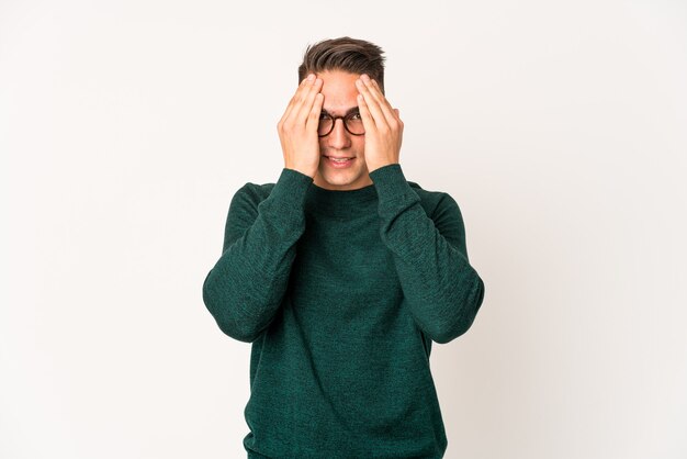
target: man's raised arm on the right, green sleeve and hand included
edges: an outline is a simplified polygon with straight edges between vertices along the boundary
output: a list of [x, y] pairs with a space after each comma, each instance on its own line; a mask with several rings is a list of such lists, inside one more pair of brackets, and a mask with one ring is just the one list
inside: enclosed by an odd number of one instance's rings
[[431, 217], [399, 165], [404, 124], [378, 82], [356, 81], [365, 127], [365, 163], [380, 199], [381, 237], [394, 254], [403, 293], [420, 329], [448, 343], [470, 328], [484, 299], [484, 282], [468, 261], [465, 228], [446, 194]]

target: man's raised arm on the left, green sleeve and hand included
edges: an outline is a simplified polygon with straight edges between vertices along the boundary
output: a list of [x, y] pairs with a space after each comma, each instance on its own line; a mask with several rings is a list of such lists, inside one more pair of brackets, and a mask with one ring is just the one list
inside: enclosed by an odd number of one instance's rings
[[262, 202], [247, 183], [232, 199], [224, 248], [203, 282], [203, 302], [219, 328], [251, 343], [274, 318], [305, 232], [305, 197], [319, 164], [323, 81], [309, 75], [277, 124], [284, 169]]

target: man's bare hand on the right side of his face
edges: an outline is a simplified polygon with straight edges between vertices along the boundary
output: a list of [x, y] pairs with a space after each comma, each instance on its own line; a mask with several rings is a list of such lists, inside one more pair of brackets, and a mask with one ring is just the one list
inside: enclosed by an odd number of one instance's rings
[[356, 80], [358, 108], [365, 128], [365, 164], [368, 172], [382, 166], [398, 164], [403, 141], [403, 121], [398, 109], [391, 107], [376, 81], [367, 75]]

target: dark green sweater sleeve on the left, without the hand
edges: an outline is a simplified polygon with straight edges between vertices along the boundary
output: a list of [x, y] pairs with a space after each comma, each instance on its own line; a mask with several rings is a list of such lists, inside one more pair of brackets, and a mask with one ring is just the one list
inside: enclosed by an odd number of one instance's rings
[[203, 282], [203, 302], [226, 335], [252, 343], [278, 312], [305, 232], [305, 197], [313, 179], [284, 168], [260, 202], [246, 183], [232, 199], [223, 254]]

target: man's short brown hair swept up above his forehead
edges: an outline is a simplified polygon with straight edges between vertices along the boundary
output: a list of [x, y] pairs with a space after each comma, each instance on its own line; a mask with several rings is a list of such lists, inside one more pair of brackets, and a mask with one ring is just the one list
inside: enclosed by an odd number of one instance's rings
[[381, 47], [349, 36], [323, 40], [308, 45], [299, 67], [299, 85], [308, 74], [342, 70], [349, 74], [367, 74], [374, 79], [384, 93], [384, 52]]

